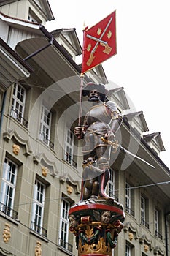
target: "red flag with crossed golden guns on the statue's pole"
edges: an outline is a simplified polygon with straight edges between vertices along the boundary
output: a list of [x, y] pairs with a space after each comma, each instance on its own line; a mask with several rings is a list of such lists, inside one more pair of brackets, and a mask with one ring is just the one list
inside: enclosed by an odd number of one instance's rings
[[83, 31], [82, 73], [116, 54], [116, 12]]

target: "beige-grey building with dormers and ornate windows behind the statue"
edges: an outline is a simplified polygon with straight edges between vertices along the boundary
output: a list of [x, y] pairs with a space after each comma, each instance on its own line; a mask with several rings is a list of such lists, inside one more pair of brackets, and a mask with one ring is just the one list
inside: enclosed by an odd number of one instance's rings
[[[82, 141], [74, 137], [80, 108], [82, 48], [75, 29], [45, 29], [48, 1], [0, 3], [0, 255], [77, 255], [69, 208], [80, 200]], [[85, 83], [108, 83], [102, 66]], [[124, 119], [117, 140], [145, 159], [111, 154], [108, 195], [125, 208], [115, 256], [170, 256], [170, 171], [160, 132], [122, 87], [109, 91]], [[88, 109], [83, 102], [82, 119]], [[146, 135], [147, 134], [147, 135]], [[154, 167], [152, 167], [152, 166]]]

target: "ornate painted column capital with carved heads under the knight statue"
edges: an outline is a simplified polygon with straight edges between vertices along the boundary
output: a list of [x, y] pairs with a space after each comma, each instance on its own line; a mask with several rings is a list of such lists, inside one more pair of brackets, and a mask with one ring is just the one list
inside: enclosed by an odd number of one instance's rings
[[113, 198], [83, 200], [69, 211], [79, 256], [112, 256], [123, 228], [123, 206]]

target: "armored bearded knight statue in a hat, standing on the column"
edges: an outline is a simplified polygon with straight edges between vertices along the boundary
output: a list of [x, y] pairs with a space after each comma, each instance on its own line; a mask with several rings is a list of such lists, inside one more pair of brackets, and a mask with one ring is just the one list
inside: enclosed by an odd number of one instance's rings
[[110, 145], [115, 142], [115, 132], [123, 121], [114, 102], [107, 99], [103, 84], [88, 83], [82, 90], [93, 106], [88, 110], [82, 127], [74, 128], [74, 135], [84, 140], [82, 195], [80, 200], [90, 197], [108, 197], [104, 192], [109, 181]]

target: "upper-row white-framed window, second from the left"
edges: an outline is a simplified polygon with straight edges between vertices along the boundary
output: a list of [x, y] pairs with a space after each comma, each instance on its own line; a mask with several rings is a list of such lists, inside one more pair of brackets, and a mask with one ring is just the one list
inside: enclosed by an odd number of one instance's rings
[[47, 146], [53, 148], [53, 143], [50, 141], [50, 128], [51, 128], [52, 113], [42, 106], [39, 140], [42, 140]]

